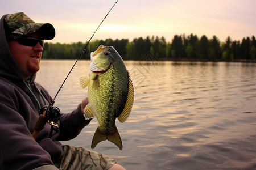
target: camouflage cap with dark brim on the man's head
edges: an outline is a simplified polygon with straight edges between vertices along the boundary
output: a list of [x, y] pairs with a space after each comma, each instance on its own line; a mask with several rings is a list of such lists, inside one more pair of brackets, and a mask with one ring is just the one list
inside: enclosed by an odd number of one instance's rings
[[42, 39], [51, 40], [55, 37], [55, 29], [49, 23], [35, 23], [23, 12], [7, 14], [5, 22], [9, 27], [10, 33], [27, 35], [38, 32]]

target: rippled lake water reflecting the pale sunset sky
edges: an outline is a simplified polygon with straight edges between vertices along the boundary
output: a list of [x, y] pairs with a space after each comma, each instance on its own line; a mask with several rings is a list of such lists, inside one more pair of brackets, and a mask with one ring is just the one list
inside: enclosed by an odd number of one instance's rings
[[[75, 61], [42, 61], [36, 81], [54, 97]], [[95, 151], [126, 169], [256, 169], [256, 63], [125, 61], [135, 87], [128, 120], [116, 121], [123, 150]], [[90, 61], [79, 61], [55, 100], [61, 112], [87, 94], [79, 86]], [[63, 142], [90, 148], [96, 118]]]

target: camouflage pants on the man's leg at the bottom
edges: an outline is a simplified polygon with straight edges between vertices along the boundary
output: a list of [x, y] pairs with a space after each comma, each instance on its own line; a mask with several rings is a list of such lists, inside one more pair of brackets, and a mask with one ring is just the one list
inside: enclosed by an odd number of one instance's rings
[[54, 163], [60, 170], [109, 169], [115, 163], [109, 156], [87, 150], [83, 147], [63, 146], [64, 155]]

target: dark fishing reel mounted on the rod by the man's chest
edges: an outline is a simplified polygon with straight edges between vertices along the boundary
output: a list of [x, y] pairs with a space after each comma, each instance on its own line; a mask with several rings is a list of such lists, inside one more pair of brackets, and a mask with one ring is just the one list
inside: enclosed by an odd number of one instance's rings
[[60, 109], [53, 105], [45, 105], [39, 110], [39, 114], [46, 112], [46, 119], [51, 126], [51, 132], [49, 138], [52, 137], [52, 131], [57, 131], [60, 128]]

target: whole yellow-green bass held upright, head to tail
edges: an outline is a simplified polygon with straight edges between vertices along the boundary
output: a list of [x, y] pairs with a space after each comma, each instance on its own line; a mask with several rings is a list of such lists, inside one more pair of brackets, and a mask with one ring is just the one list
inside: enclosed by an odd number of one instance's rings
[[90, 54], [89, 76], [80, 78], [80, 86], [88, 87], [84, 109], [86, 120], [97, 117], [98, 127], [91, 148], [101, 141], [110, 141], [122, 150], [122, 139], [115, 120], [123, 123], [130, 116], [134, 102], [134, 87], [122, 57], [113, 46], [100, 45]]

